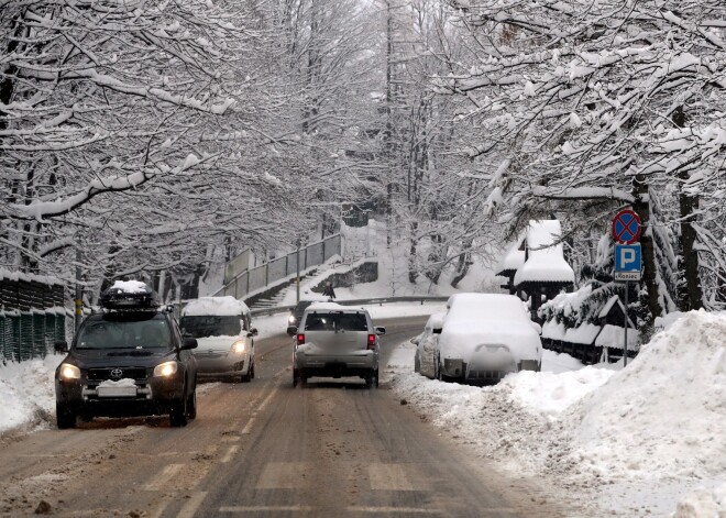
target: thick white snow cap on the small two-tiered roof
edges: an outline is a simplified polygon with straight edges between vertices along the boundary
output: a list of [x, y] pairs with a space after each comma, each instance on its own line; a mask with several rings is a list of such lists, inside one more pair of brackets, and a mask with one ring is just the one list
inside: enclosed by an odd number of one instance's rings
[[[574, 272], [564, 261], [559, 220], [530, 221], [527, 229], [528, 256], [517, 269], [514, 283], [574, 283]], [[554, 244], [557, 243], [557, 244]]]

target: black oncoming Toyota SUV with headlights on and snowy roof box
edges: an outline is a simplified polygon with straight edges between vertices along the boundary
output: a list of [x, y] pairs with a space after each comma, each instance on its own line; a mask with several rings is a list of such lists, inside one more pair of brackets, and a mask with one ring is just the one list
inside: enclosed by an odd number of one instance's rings
[[176, 320], [146, 285], [117, 282], [101, 295], [102, 310], [81, 323], [55, 372], [58, 428], [76, 417], [169, 415], [173, 427], [197, 415], [197, 370]]

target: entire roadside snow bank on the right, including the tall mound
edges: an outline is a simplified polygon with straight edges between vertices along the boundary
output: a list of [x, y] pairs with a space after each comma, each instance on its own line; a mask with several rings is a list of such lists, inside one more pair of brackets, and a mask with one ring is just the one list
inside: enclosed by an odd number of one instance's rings
[[716, 518], [726, 514], [724, 335], [725, 315], [691, 312], [627, 368], [581, 367], [546, 352], [542, 373], [484, 388], [415, 374], [415, 346], [405, 342], [386, 374], [451, 437], [550, 481], [586, 516]]

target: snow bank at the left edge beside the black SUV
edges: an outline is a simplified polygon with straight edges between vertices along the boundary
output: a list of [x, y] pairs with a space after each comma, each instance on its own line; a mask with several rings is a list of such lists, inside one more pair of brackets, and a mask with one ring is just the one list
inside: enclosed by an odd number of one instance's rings
[[55, 414], [53, 377], [63, 355], [0, 365], [0, 436], [29, 429]]

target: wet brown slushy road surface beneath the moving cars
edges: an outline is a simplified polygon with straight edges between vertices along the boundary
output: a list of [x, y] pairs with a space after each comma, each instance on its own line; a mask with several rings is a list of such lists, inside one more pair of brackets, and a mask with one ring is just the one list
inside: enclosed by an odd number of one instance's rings
[[[425, 318], [387, 327], [392, 349]], [[200, 385], [199, 412], [96, 419], [0, 443], [0, 516], [553, 517], [531, 481], [512, 480], [452, 444], [385, 384], [312, 378], [292, 386], [292, 345], [256, 343], [250, 384]]]

